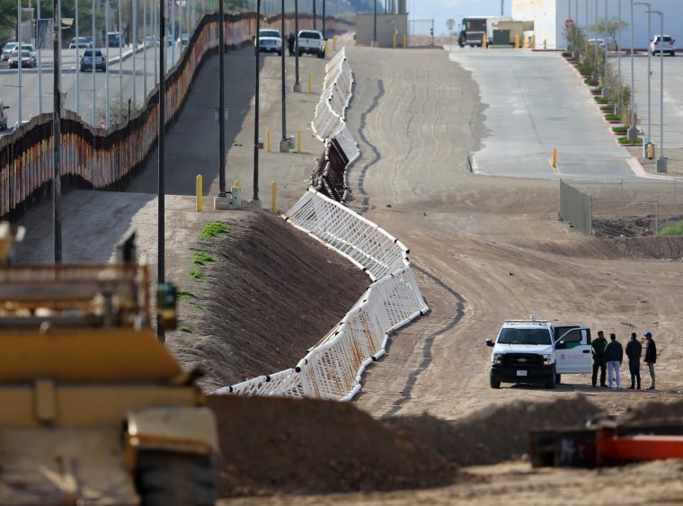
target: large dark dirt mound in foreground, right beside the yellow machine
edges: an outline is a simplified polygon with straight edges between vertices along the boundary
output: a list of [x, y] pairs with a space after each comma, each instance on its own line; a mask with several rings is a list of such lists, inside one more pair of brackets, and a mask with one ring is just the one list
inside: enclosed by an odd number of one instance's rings
[[450, 484], [455, 468], [352, 404], [210, 395], [219, 497], [346, 493]]

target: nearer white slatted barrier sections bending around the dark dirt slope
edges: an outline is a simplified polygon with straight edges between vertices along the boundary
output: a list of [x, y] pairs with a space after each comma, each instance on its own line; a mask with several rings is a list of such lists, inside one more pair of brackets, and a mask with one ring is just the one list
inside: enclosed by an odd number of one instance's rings
[[[299, 205], [301, 200], [306, 203]], [[357, 259], [370, 260], [375, 266], [392, 263], [397, 269], [370, 285], [342, 322], [318, 342], [296, 368], [226, 386], [218, 389], [217, 394], [350, 400], [359, 391], [363, 370], [384, 354], [390, 333], [429, 311], [412, 276], [408, 250], [403, 244], [379, 226], [320, 193], [307, 191], [301, 200], [287, 213], [295, 224], [294, 215], [306, 214], [306, 219], [298, 220], [298, 227], [306, 230], [306, 226], [313, 226], [309, 231], [319, 237], [325, 230], [328, 244], [335, 248], [334, 244], [342, 245], [343, 250], [336, 249], [354, 263], [359, 263]], [[315, 218], [302, 213], [303, 209], [315, 209]], [[362, 232], [356, 233], [354, 229]], [[333, 230], [341, 235], [334, 235]], [[359, 239], [357, 244], [349, 242], [355, 239]], [[383, 244], [386, 251], [380, 251], [379, 244]], [[377, 262], [377, 258], [386, 260]], [[370, 271], [369, 267], [365, 270]]]

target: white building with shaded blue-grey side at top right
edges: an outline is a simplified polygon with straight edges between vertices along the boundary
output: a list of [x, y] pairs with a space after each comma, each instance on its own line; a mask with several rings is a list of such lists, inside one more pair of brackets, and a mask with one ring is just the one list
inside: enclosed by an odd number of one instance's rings
[[[631, 4], [649, 1], [653, 11], [664, 13], [664, 33], [677, 40], [677, 47], [683, 49], [683, 0], [511, 0], [511, 13], [515, 20], [534, 22], [537, 48], [565, 48], [567, 40], [564, 35], [566, 20], [572, 20], [586, 31], [586, 27], [595, 24], [596, 20], [619, 18], [621, 4], [621, 20], [628, 26], [621, 32], [621, 47], [631, 47]], [[607, 6], [607, 16], [605, 8]], [[645, 5], [634, 5], [634, 44], [635, 49], [646, 49], [647, 14]], [[652, 14], [652, 35], [660, 32], [660, 16]], [[590, 38], [604, 38], [591, 34]], [[617, 35], [617, 43], [619, 36]], [[608, 40], [611, 43], [611, 40]]]

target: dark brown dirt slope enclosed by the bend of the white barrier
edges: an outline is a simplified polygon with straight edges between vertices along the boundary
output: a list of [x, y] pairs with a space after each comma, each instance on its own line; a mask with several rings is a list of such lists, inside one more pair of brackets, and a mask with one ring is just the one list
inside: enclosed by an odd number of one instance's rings
[[200, 243], [215, 262], [189, 281], [169, 347], [183, 366], [208, 369], [208, 391], [292, 368], [368, 288], [368, 275], [269, 213], [244, 213], [229, 234]]

